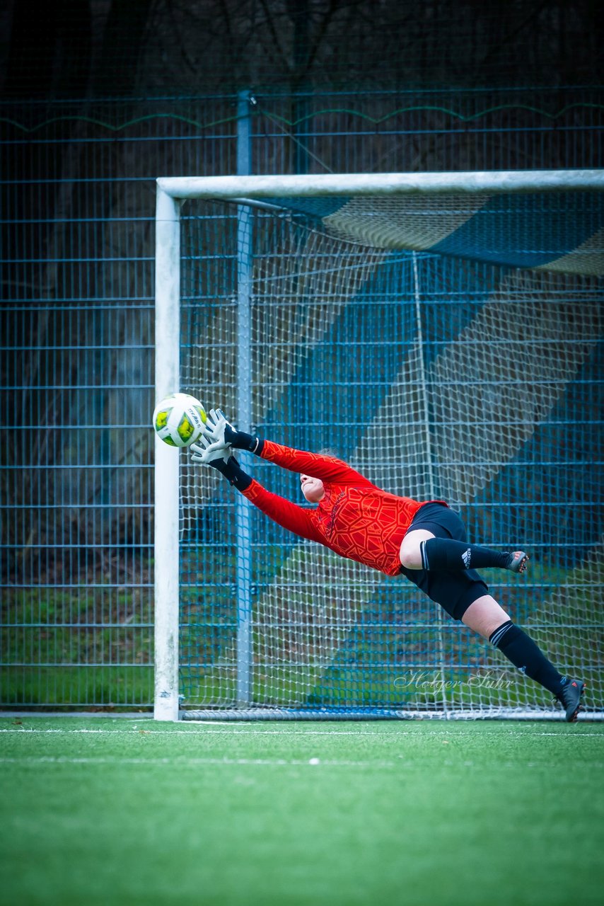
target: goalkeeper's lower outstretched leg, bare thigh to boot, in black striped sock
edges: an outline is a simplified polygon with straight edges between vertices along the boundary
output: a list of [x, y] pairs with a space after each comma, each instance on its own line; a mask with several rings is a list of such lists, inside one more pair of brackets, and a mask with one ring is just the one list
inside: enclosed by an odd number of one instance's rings
[[461, 616], [470, 629], [488, 639], [495, 648], [530, 679], [540, 683], [554, 695], [566, 710], [566, 719], [574, 721], [580, 710], [580, 698], [585, 683], [569, 679], [556, 670], [532, 638], [519, 626], [490, 594], [476, 598]]

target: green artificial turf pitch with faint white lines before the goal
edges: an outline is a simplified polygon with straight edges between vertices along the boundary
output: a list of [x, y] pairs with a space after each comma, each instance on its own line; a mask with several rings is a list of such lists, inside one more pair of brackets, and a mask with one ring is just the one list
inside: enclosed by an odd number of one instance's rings
[[0, 761], [10, 906], [603, 900], [599, 724], [2, 718]]

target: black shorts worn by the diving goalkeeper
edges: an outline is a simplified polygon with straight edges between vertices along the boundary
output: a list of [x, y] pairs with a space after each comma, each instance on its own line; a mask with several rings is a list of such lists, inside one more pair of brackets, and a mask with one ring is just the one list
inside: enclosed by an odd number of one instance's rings
[[[467, 541], [464, 523], [452, 509], [443, 504], [424, 504], [418, 509], [407, 532], [414, 532], [417, 528], [424, 528], [437, 538]], [[441, 573], [401, 566], [400, 572], [417, 585], [417, 588], [421, 588], [428, 598], [440, 604], [454, 620], [461, 620], [470, 604], [489, 592], [486, 583], [475, 569]]]

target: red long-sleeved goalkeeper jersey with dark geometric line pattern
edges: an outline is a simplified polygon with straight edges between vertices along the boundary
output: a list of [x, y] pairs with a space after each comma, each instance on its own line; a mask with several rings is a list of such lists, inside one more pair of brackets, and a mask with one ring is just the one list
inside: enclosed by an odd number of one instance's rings
[[345, 462], [264, 440], [262, 458], [277, 466], [321, 478], [325, 495], [316, 509], [293, 504], [257, 481], [244, 490], [254, 506], [295, 535], [330, 547], [336, 554], [387, 575], [400, 572], [398, 551], [422, 503], [388, 494]]

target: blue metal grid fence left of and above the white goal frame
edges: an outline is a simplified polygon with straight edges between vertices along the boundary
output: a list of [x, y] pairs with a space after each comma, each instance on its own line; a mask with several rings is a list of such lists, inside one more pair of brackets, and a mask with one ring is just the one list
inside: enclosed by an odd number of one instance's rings
[[[594, 167], [598, 89], [246, 94], [252, 170]], [[0, 105], [0, 701], [152, 702], [155, 178], [235, 172], [235, 95]]]

